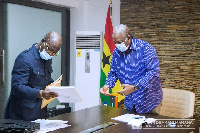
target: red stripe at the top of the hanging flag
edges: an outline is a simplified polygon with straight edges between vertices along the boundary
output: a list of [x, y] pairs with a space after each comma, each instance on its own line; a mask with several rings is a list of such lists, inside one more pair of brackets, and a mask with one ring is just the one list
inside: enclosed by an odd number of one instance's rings
[[108, 12], [107, 12], [107, 18], [106, 18], [104, 39], [105, 39], [108, 47], [110, 48], [111, 54], [113, 53], [113, 51], [116, 47], [115, 43], [113, 42], [112, 34], [113, 34], [113, 26], [112, 26], [112, 21], [111, 21], [111, 18], [110, 18], [110, 5], [109, 5]]

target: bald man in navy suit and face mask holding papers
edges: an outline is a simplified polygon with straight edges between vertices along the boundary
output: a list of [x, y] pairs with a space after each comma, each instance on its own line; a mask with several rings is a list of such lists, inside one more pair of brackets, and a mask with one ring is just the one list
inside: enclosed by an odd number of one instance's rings
[[5, 110], [6, 119], [33, 121], [47, 118], [47, 107], [41, 109], [41, 103], [42, 98], [58, 96], [57, 93], [45, 91], [45, 88], [53, 82], [52, 57], [61, 45], [61, 35], [51, 31], [41, 42], [17, 56]]

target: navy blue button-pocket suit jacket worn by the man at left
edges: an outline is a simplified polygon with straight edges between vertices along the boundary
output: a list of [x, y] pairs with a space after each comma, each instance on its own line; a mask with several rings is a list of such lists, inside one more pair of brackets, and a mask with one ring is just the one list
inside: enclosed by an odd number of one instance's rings
[[27, 120], [46, 118], [46, 107], [41, 109], [40, 90], [53, 82], [52, 60], [43, 60], [35, 44], [21, 52], [12, 70], [11, 92], [5, 110], [6, 119]]

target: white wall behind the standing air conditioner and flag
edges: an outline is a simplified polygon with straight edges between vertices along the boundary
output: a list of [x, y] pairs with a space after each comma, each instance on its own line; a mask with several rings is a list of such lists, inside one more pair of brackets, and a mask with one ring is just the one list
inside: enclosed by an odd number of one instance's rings
[[[74, 85], [75, 32], [102, 31], [105, 32], [106, 16], [110, 0], [78, 0], [78, 5], [71, 8], [70, 20], [70, 84]], [[113, 27], [120, 24], [120, 0], [112, 2]]]

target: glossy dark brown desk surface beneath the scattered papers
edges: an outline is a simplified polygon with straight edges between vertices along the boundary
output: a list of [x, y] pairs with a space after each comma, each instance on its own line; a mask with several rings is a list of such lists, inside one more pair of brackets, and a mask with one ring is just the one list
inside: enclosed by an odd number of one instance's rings
[[[169, 133], [169, 132], [180, 132], [180, 133], [190, 133], [195, 132], [199, 133], [200, 122], [193, 120], [190, 128], [186, 129], [133, 129], [131, 125], [128, 125], [124, 122], [119, 122], [115, 120], [111, 120], [111, 118], [123, 115], [123, 114], [133, 114], [126, 109], [122, 108], [114, 108], [114, 107], [107, 107], [107, 106], [95, 106], [92, 108], [83, 109], [80, 111], [62, 114], [56, 117], [50, 118], [51, 120], [65, 120], [68, 121], [68, 124], [71, 125], [70, 127], [59, 129], [53, 131], [51, 133], [79, 133], [81, 131], [94, 128], [98, 125], [107, 123], [107, 122], [114, 122], [118, 123], [114, 126], [105, 128], [100, 132], [113, 132], [113, 133], [151, 133], [151, 132], [161, 132], [161, 133]], [[139, 114], [145, 116], [146, 118], [155, 118], [155, 119], [169, 119], [169, 117], [160, 116], [156, 114]], [[172, 119], [172, 118], [171, 118]], [[173, 118], [174, 119], [174, 118]], [[180, 120], [180, 119], [177, 119]], [[144, 127], [144, 126], [143, 126]], [[194, 129], [195, 128], [195, 129]]]

